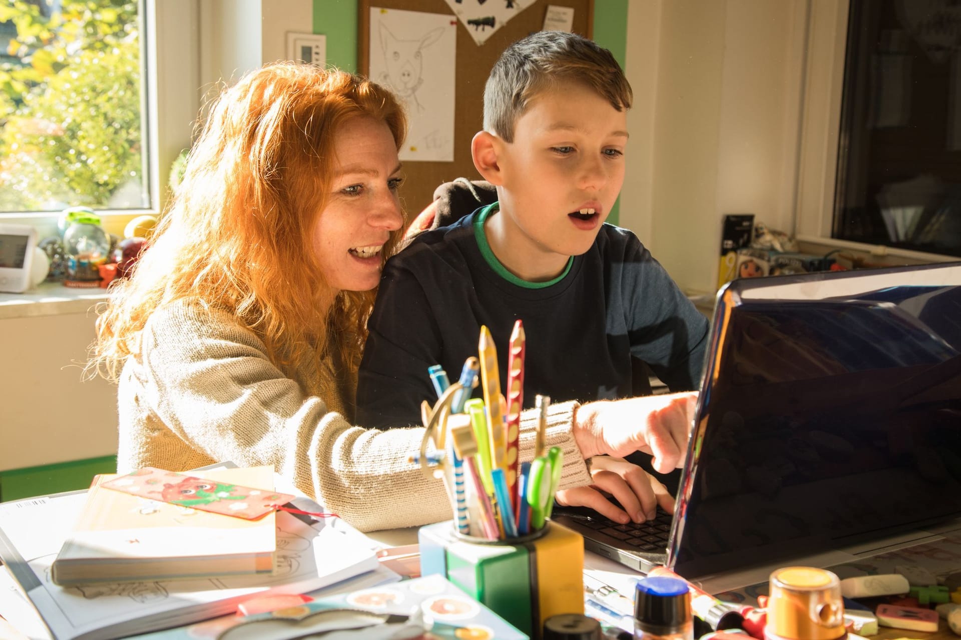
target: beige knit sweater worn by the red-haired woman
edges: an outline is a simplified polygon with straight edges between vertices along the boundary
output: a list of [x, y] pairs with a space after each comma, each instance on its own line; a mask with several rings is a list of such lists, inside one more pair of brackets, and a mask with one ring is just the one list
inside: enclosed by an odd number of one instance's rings
[[[305, 380], [320, 381], [319, 396], [304, 391]], [[290, 379], [233, 316], [176, 303], [153, 313], [139, 354], [123, 368], [118, 471], [270, 464], [361, 531], [450, 518], [441, 482], [407, 462], [424, 429], [354, 426], [345, 417], [352, 396], [353, 384], [338, 382], [331, 363]], [[548, 443], [564, 451], [561, 488], [591, 482], [571, 434], [577, 406], [553, 405], [548, 418]], [[525, 412], [521, 460], [532, 456], [535, 425]]]

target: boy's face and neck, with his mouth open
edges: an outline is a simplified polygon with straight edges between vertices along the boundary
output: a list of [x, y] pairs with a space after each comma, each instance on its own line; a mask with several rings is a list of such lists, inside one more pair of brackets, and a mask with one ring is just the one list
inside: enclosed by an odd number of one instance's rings
[[586, 85], [534, 97], [514, 141], [498, 142], [501, 214], [487, 236], [507, 269], [531, 279], [590, 249], [624, 183], [627, 143], [627, 111]]

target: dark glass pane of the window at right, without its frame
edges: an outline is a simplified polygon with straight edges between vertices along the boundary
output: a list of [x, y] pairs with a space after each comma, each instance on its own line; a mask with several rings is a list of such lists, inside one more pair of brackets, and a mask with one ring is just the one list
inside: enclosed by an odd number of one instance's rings
[[961, 256], [961, 5], [851, 0], [831, 237]]

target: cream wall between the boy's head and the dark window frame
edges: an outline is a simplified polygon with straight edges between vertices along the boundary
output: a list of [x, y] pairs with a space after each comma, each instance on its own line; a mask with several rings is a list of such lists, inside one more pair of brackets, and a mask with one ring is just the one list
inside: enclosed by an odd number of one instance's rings
[[715, 289], [725, 214], [793, 229], [806, 8], [628, 5], [635, 108], [621, 221], [685, 291]]

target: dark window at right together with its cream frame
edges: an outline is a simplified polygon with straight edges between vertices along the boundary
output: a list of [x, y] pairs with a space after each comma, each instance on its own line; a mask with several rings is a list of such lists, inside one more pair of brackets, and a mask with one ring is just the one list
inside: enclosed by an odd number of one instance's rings
[[809, 0], [797, 233], [898, 262], [961, 256], [961, 8]]

